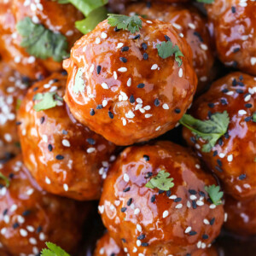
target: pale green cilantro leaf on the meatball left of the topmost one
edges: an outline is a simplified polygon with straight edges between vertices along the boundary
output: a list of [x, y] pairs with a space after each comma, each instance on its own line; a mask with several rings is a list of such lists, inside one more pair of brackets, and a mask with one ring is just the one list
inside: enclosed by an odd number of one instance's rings
[[63, 101], [63, 99], [58, 96], [56, 92], [46, 92], [44, 94], [38, 93], [34, 96], [34, 100], [40, 101], [33, 107], [37, 112], [49, 108], [55, 108], [58, 101]]

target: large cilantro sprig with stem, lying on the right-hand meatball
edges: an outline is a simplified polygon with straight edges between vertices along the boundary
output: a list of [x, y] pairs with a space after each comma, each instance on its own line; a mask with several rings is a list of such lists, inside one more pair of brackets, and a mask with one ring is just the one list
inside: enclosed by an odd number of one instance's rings
[[190, 114], [185, 113], [179, 123], [187, 127], [190, 131], [195, 133], [196, 137], [201, 137], [207, 140], [208, 143], [203, 145], [203, 152], [210, 152], [218, 139], [226, 133], [230, 123], [229, 114], [224, 113], [213, 113], [211, 119], [200, 120], [195, 119]]

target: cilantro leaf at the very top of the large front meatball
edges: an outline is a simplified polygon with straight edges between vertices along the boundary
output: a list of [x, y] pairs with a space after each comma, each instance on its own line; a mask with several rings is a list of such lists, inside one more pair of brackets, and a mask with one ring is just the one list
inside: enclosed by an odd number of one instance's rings
[[108, 24], [118, 29], [128, 30], [132, 34], [143, 27], [143, 21], [137, 15], [108, 15]]

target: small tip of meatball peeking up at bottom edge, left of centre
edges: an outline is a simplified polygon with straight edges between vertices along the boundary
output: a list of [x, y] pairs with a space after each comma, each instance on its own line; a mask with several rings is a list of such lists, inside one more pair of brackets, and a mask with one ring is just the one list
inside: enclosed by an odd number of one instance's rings
[[97, 241], [94, 256], [125, 256], [123, 249], [109, 236], [108, 232]]

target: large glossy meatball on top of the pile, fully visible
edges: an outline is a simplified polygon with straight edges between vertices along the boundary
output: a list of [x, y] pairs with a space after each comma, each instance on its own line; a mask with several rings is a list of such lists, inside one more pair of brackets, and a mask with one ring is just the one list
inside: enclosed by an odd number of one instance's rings
[[[147, 141], [171, 130], [196, 90], [191, 49], [184, 38], [171, 24], [138, 19], [142, 28], [135, 34], [104, 20], [79, 39], [64, 62], [64, 99], [71, 113], [117, 145]], [[158, 53], [156, 47], [169, 40], [185, 56], [181, 67], [174, 56], [164, 59]]]

